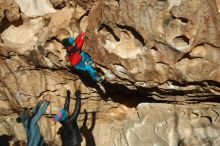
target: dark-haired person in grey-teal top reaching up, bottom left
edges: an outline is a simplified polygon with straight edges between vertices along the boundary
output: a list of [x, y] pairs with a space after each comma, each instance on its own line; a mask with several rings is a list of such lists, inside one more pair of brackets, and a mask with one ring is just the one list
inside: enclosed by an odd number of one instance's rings
[[[18, 123], [23, 123], [27, 134], [28, 146], [42, 146], [44, 143], [43, 137], [40, 134], [40, 128], [37, 124], [38, 120], [44, 114], [47, 106], [50, 103], [50, 95], [45, 96], [45, 103], [42, 105], [42, 100], [39, 100], [32, 111], [24, 110], [16, 119]], [[42, 105], [42, 107], [41, 107]]]

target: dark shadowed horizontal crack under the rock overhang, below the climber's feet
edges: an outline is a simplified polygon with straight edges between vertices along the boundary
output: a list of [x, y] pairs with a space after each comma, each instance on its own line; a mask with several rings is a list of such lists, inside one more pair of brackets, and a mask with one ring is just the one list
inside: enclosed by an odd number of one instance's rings
[[[88, 86], [95, 88], [101, 98], [105, 101], [112, 100], [113, 102], [123, 104], [127, 107], [137, 107], [140, 103], [167, 103], [167, 104], [196, 104], [202, 102], [219, 102], [220, 95], [213, 95], [209, 91], [200, 90], [175, 90], [175, 89], [160, 89], [159, 87], [143, 88], [137, 87], [136, 90], [129, 89], [123, 84], [110, 83], [103, 81], [101, 86], [104, 87], [103, 93], [100, 85], [93, 81], [87, 73], [73, 71], [72, 73], [79, 75], [82, 82]], [[202, 82], [177, 82], [170, 81], [173, 85], [186, 87], [190, 85], [201, 86], [204, 88], [208, 85], [220, 87], [220, 82], [216, 81], [202, 81]], [[155, 98], [155, 97], [159, 98]], [[176, 97], [185, 97], [184, 100], [176, 100]], [[169, 97], [169, 98], [167, 98]], [[196, 98], [196, 100], [193, 100]]]

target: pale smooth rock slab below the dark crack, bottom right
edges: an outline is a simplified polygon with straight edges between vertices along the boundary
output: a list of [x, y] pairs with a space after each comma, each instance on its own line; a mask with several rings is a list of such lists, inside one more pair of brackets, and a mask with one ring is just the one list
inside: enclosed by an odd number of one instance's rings
[[[140, 104], [124, 122], [116, 145], [219, 145], [219, 108]], [[156, 116], [155, 116], [156, 115]]]

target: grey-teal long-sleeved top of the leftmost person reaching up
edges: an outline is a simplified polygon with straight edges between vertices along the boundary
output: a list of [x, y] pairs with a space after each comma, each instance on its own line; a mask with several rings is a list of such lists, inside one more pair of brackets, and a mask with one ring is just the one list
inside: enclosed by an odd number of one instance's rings
[[23, 122], [26, 134], [27, 134], [27, 143], [28, 146], [42, 146], [44, 143], [43, 137], [40, 134], [40, 128], [37, 124], [40, 117], [44, 114], [46, 111], [49, 101], [46, 101], [42, 107], [40, 107], [42, 104], [42, 101], [38, 101], [35, 105], [32, 113], [34, 114], [34, 117], [31, 119], [26, 119]]

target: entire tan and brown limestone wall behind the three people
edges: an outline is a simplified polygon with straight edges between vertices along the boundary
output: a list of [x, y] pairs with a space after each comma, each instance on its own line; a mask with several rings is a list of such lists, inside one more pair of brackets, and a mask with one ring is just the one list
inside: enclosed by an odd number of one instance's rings
[[[83, 146], [219, 146], [219, 10], [219, 0], [0, 0], [0, 135], [26, 142], [16, 117], [51, 94], [39, 125], [60, 146], [52, 117], [67, 89], [73, 111], [80, 89]], [[54, 39], [81, 31], [101, 84], [72, 70]]]

